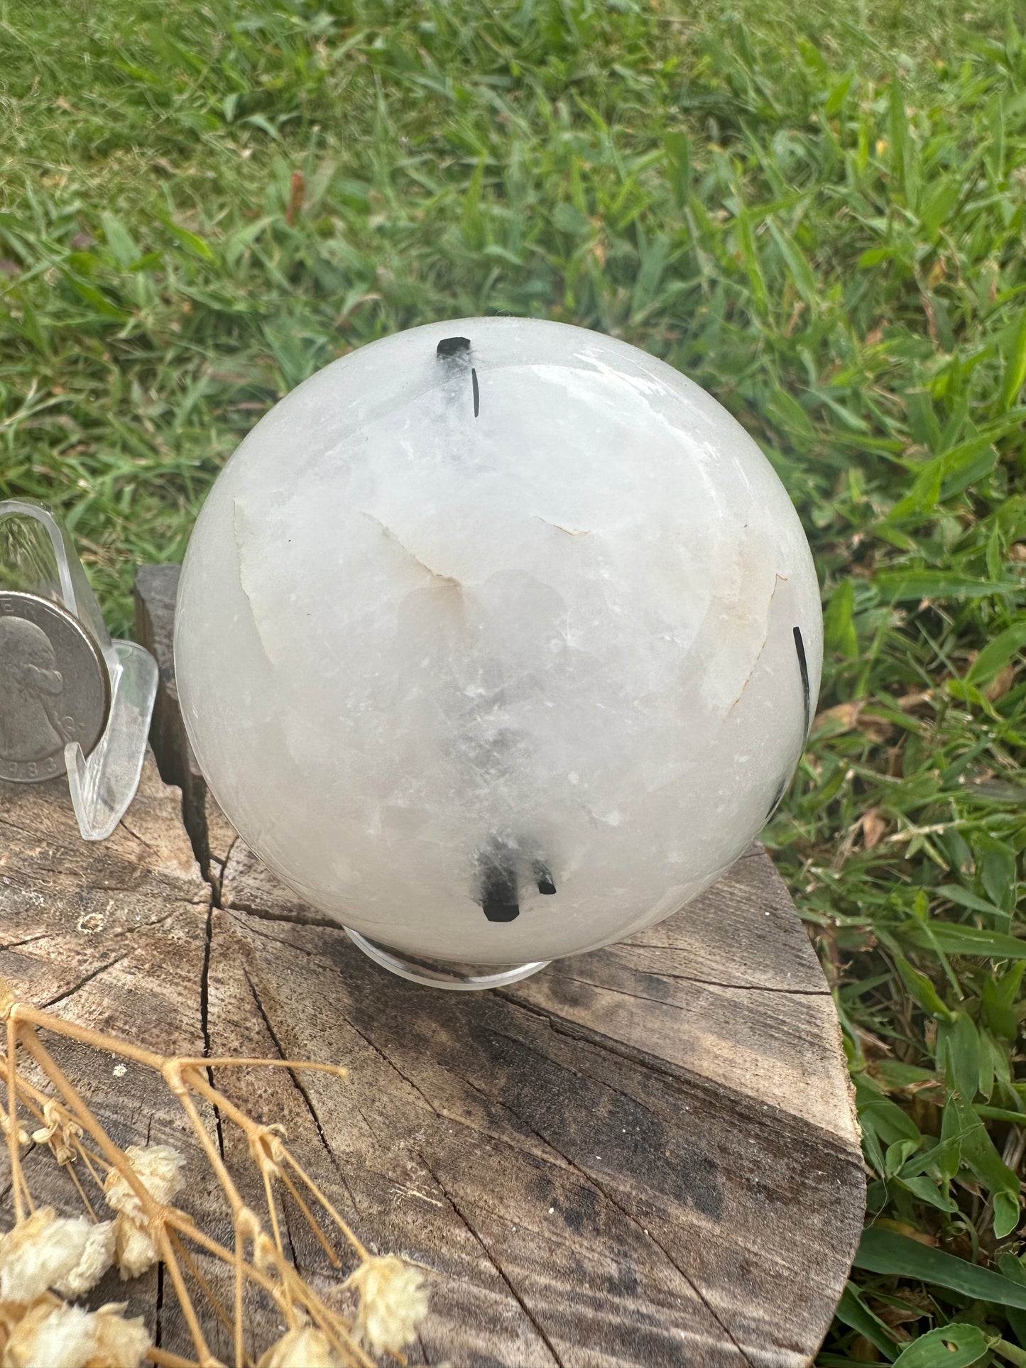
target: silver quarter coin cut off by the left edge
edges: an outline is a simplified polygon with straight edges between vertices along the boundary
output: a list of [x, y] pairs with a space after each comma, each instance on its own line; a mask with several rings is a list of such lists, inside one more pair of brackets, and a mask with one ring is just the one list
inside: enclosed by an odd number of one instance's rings
[[64, 773], [64, 746], [89, 755], [111, 711], [107, 662], [77, 617], [36, 594], [0, 591], [0, 780]]

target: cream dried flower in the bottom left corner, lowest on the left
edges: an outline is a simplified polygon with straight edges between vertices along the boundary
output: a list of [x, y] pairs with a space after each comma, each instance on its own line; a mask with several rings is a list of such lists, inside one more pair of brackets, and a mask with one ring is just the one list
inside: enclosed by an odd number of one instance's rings
[[150, 1345], [142, 1317], [124, 1320], [124, 1302], [82, 1311], [56, 1297], [31, 1305], [5, 1304], [11, 1324], [4, 1345], [4, 1368], [140, 1368]]

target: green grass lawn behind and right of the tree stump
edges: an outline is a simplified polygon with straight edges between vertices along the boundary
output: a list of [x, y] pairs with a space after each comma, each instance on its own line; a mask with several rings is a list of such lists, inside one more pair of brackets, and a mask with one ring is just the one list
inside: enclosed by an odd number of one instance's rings
[[116, 628], [264, 409], [435, 317], [624, 337], [780, 471], [828, 650], [767, 843], [878, 1223], [824, 1364], [1026, 1364], [1015, 15], [0, 0], [0, 495], [59, 508]]

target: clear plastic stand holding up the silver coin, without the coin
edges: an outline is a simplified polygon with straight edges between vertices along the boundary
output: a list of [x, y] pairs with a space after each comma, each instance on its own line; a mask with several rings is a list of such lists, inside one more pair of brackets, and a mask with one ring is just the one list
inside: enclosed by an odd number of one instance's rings
[[0, 499], [0, 591], [48, 599], [70, 613], [103, 655], [109, 713], [96, 746], [64, 746], [78, 829], [105, 840], [135, 796], [157, 692], [157, 665], [135, 642], [112, 640], [82, 562], [56, 517], [41, 503]]

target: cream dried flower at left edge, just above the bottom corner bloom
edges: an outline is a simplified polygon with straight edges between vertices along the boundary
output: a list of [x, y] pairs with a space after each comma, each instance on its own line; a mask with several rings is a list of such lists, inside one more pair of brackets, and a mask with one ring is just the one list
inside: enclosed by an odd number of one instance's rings
[[82, 1297], [114, 1261], [114, 1227], [41, 1207], [0, 1239], [0, 1297], [34, 1301], [49, 1287]]

